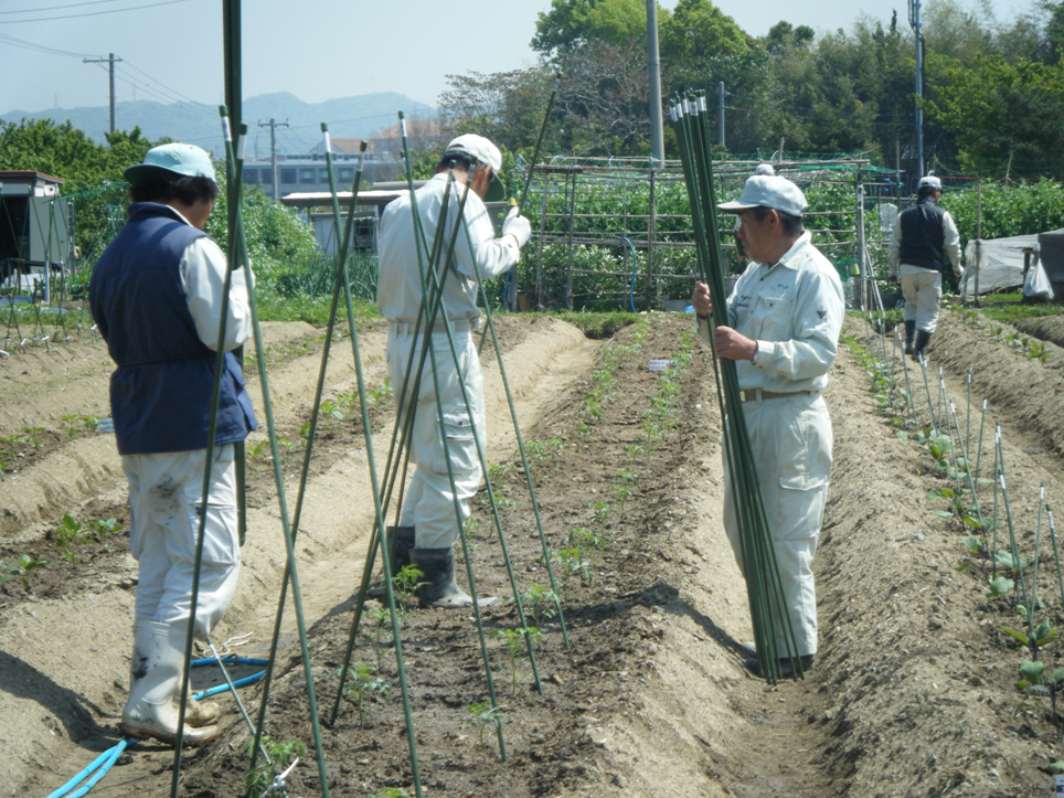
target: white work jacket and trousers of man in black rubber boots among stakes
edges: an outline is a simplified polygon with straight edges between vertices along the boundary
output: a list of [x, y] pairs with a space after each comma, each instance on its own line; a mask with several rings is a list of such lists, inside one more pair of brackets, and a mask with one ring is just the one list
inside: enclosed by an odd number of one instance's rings
[[[436, 174], [415, 192], [417, 210], [429, 246], [440, 221], [447, 179], [447, 174]], [[444, 256], [458, 219], [458, 204], [464, 191], [465, 187], [460, 183], [451, 187]], [[488, 217], [488, 211], [472, 190], [469, 191], [466, 200], [464, 216], [469, 240], [467, 242], [466, 234], [459, 231], [451, 268], [444, 279], [440, 315], [437, 317], [432, 336], [432, 352], [436, 358], [439, 376], [439, 401], [444, 414], [447, 448], [445, 451], [440, 437], [430, 355], [426, 355], [422, 371], [414, 429], [409, 441], [411, 460], [415, 469], [403, 500], [400, 525], [415, 528], [417, 549], [449, 549], [458, 540], [460, 524], [469, 517], [466, 503], [480, 487], [482, 474], [474, 435], [483, 447], [487, 430], [483, 376], [474, 340], [474, 332], [480, 321], [480, 310], [477, 308], [477, 275], [479, 274], [481, 279], [501, 275], [518, 263], [520, 257], [520, 248], [512, 236], [494, 237], [494, 227]], [[411, 349], [415, 349], [413, 364], [416, 368], [425, 332], [423, 321], [415, 340], [414, 328], [422, 305], [422, 281], [409, 196], [402, 196], [384, 209], [379, 242], [380, 274], [376, 306], [389, 321], [385, 354], [396, 409], [401, 412], [404, 404], [401, 394]], [[422, 260], [422, 267], [427, 269], [427, 255], [423, 256]], [[447, 343], [444, 313], [450, 320], [454, 331], [459, 368], [472, 411], [471, 423], [462, 398], [458, 371], [455, 369], [455, 361]], [[409, 382], [413, 385], [413, 375]], [[407, 386], [407, 391], [409, 387]], [[448, 455], [455, 476], [460, 519], [456, 518], [455, 494], [451, 492], [447, 475]]]

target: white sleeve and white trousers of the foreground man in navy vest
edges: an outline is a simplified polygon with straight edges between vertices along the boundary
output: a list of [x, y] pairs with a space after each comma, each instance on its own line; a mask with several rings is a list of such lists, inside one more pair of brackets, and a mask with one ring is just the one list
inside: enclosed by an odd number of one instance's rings
[[[217, 351], [225, 255], [212, 240], [193, 241], [180, 262], [181, 284], [196, 334]], [[223, 347], [231, 351], [252, 334], [244, 270], [233, 273]], [[236, 589], [241, 549], [233, 444], [215, 447], [206, 509], [195, 626], [210, 634]], [[123, 455], [129, 482], [129, 553], [139, 564], [135, 628], [148, 621], [185, 621], [192, 603], [195, 535], [202, 506], [206, 449]]]

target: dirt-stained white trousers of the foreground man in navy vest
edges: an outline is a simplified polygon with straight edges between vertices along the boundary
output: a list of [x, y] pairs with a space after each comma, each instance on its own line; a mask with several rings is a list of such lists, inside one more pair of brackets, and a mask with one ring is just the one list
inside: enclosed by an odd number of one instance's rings
[[[214, 450], [203, 530], [195, 627], [209, 634], [236, 590], [241, 568], [233, 444]], [[124, 455], [129, 481], [129, 553], [140, 565], [136, 625], [188, 621], [192, 608], [195, 542], [203, 511], [206, 450]]]

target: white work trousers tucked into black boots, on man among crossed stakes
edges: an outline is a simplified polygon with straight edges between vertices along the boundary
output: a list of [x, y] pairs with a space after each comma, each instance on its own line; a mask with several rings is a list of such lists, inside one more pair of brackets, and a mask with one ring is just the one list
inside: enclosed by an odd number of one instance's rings
[[[471, 331], [455, 332], [455, 350], [458, 353], [459, 369], [469, 397], [472, 421], [462, 398], [461, 385], [455, 359], [447, 344], [446, 332], [434, 332], [432, 348], [436, 354], [436, 370], [439, 377], [439, 402], [443, 407], [443, 429], [446, 434], [446, 448], [440, 433], [439, 413], [436, 406], [436, 387], [433, 384], [430, 355], [426, 355], [417, 392], [417, 409], [414, 428], [411, 433], [411, 460], [414, 476], [403, 500], [400, 525], [413, 526], [415, 545], [418, 549], [449, 549], [458, 540], [458, 530], [469, 518], [467, 503], [480, 487], [482, 476], [477, 444], [474, 435], [485, 446], [486, 424], [483, 409], [483, 374]], [[392, 381], [396, 409], [400, 408], [403, 379], [406, 374], [411, 349], [415, 350], [412, 370], [417, 369], [421, 358], [421, 342], [424, 336], [415, 339], [412, 332], [398, 332], [394, 328], [387, 333], [387, 368]], [[413, 374], [411, 385], [413, 385]], [[407, 392], [411, 386], [407, 386]], [[447, 459], [450, 459], [455, 477], [451, 490], [447, 474]], [[457, 496], [459, 510], [455, 511]]]

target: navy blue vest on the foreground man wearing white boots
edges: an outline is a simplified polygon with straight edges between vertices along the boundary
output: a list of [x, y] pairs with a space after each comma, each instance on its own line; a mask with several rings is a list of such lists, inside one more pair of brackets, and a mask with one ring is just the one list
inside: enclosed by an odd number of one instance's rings
[[[179, 269], [189, 244], [204, 236], [167, 205], [135, 203], [93, 268], [93, 319], [118, 365], [110, 412], [120, 455], [206, 448], [217, 355], [200, 341]], [[255, 427], [240, 363], [226, 352], [215, 444], [243, 440]]]

